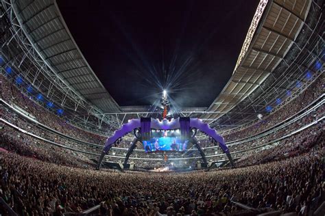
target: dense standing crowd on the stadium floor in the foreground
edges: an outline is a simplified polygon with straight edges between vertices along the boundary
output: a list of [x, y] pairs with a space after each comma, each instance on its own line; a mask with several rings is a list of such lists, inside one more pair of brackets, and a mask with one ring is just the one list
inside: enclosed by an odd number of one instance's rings
[[20, 215], [231, 215], [241, 202], [307, 215], [324, 200], [321, 150], [287, 160], [215, 172], [117, 173], [1, 153], [1, 197]]

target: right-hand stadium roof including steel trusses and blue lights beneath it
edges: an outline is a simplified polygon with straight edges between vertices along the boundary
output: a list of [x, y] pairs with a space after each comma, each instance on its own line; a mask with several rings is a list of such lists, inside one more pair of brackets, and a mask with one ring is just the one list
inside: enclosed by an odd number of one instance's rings
[[[261, 16], [265, 2], [256, 15]], [[258, 23], [254, 16], [234, 74], [202, 119], [224, 132], [244, 128], [258, 121], [258, 113], [267, 115], [289, 103], [322, 75], [323, 3], [269, 1]]]

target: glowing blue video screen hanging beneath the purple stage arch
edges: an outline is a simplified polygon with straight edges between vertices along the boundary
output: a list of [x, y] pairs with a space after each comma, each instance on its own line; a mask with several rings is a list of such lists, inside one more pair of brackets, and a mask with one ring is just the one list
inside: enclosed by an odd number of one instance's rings
[[184, 152], [188, 141], [181, 141], [180, 132], [176, 131], [152, 131], [152, 137], [143, 141], [145, 152], [175, 151]]

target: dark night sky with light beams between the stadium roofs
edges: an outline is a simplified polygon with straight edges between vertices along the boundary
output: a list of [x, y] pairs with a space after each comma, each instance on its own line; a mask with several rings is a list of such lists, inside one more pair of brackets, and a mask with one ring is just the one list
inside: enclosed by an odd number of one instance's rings
[[258, 0], [58, 1], [117, 103], [208, 107], [232, 75]]

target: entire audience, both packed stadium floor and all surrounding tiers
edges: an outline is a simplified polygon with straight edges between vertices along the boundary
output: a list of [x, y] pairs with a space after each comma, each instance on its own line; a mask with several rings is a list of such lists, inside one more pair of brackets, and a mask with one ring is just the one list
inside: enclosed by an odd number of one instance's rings
[[[10, 85], [0, 75], [1, 98], [18, 105], [38, 122], [64, 133], [73, 139], [58, 135], [36, 126], [15, 111], [0, 105], [1, 118], [31, 135], [0, 122], [0, 196], [19, 215], [62, 215], [80, 213], [100, 204], [100, 215], [236, 215], [240, 213], [234, 202], [258, 208], [296, 212], [308, 215], [325, 200], [324, 189], [324, 122], [315, 124], [300, 133], [275, 141], [324, 116], [324, 105], [285, 127], [252, 141], [231, 145], [230, 152], [237, 168], [213, 172], [190, 172], [159, 174], [147, 172], [96, 171], [95, 162], [106, 137], [82, 131], [43, 109], [25, 94]], [[289, 105], [253, 126], [226, 135], [232, 141], [256, 135], [275, 126], [278, 122], [294, 116], [324, 92], [324, 76]], [[80, 140], [80, 141], [78, 141]], [[62, 148], [49, 141], [67, 148]], [[269, 143], [269, 144], [268, 144]], [[211, 146], [206, 139], [202, 147]], [[124, 139], [117, 147], [129, 148], [130, 139]], [[254, 148], [258, 147], [258, 148]], [[251, 150], [251, 148], [254, 148]], [[138, 144], [136, 149], [142, 149]], [[77, 151], [76, 151], [77, 150]], [[83, 152], [90, 152], [86, 154]], [[222, 153], [209, 148], [206, 155]], [[123, 163], [125, 150], [112, 148], [108, 161]], [[197, 151], [145, 154], [134, 151], [130, 159], [137, 168], [154, 168], [173, 165], [177, 157], [199, 157]], [[115, 157], [113, 157], [115, 156]], [[150, 159], [161, 158], [160, 161]], [[225, 159], [226, 156], [214, 158]], [[191, 159], [183, 166], [194, 166]], [[183, 163], [184, 161], [182, 161]], [[177, 163], [175, 164], [175, 166]], [[0, 206], [0, 211], [4, 211]]]

